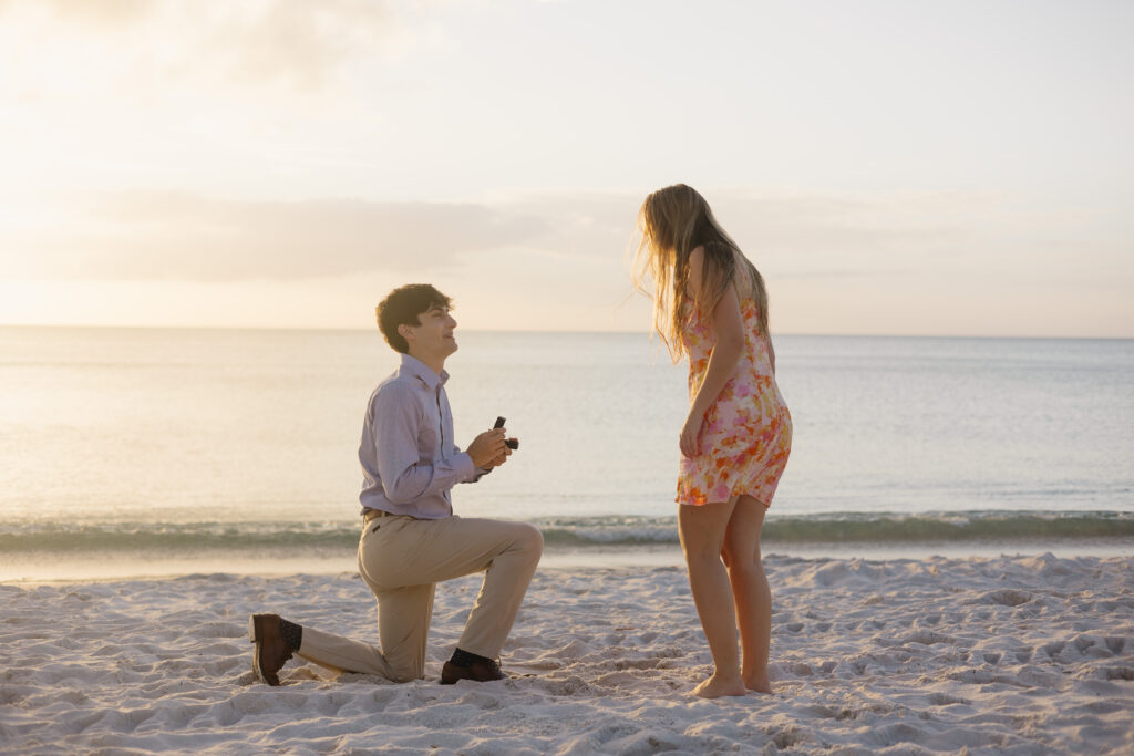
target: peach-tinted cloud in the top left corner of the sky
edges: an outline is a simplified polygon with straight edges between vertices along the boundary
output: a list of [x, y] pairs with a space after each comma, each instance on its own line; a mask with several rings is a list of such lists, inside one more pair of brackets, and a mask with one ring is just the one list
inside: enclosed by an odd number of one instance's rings
[[[381, 52], [408, 32], [386, 0], [0, 0], [23, 41], [20, 76], [36, 82], [37, 58], [86, 50], [84, 70], [108, 86], [279, 85], [318, 91], [346, 61]], [[16, 34], [18, 32], [18, 34]], [[107, 61], [117, 61], [108, 65]], [[37, 82], [43, 86], [60, 82]]]

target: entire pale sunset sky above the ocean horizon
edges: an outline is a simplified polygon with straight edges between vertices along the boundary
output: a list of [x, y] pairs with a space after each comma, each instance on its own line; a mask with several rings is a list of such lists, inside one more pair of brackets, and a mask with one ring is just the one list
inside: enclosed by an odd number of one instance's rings
[[646, 331], [683, 181], [780, 333], [1134, 337], [1134, 3], [0, 0], [0, 324]]

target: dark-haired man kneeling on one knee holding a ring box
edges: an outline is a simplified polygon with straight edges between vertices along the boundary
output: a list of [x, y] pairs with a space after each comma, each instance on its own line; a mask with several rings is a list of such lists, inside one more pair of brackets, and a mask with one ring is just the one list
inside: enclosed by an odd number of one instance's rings
[[540, 561], [543, 536], [525, 523], [452, 513], [450, 489], [505, 464], [511, 451], [503, 428], [481, 433], [465, 451], [454, 443], [445, 393], [445, 360], [457, 351], [449, 305], [432, 286], [409, 284], [378, 306], [382, 335], [401, 352], [400, 367], [371, 394], [358, 448], [358, 571], [378, 598], [381, 649], [277, 614], [254, 614], [252, 668], [268, 685], [280, 683], [279, 670], [293, 654], [396, 682], [424, 677], [434, 584], [480, 571], [484, 583], [441, 670], [441, 685], [505, 677], [497, 657]]

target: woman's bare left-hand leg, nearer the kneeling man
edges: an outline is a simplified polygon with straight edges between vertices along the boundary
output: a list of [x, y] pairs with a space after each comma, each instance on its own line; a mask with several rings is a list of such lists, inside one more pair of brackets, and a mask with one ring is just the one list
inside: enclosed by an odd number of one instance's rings
[[731, 513], [733, 506], [723, 502], [703, 507], [678, 506], [678, 533], [685, 563], [689, 568], [689, 589], [714, 666], [712, 677], [693, 689], [695, 695], [704, 698], [743, 696], [746, 693], [736, 648], [736, 614], [728, 572], [720, 559]]

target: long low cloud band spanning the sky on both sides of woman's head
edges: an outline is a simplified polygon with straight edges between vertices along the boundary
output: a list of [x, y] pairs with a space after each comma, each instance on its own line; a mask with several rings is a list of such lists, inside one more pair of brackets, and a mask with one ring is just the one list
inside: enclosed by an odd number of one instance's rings
[[[1109, 260], [1115, 247], [1093, 215], [1052, 219], [985, 195], [708, 196], [773, 279], [959, 281], [979, 271], [1022, 286], [1022, 275], [1064, 280], [1074, 260]], [[35, 223], [25, 213], [6, 224], [0, 213], [0, 275], [238, 281], [480, 267], [585, 284], [625, 277], [640, 202], [585, 192], [465, 203], [101, 194], [78, 207], [56, 203], [58, 214]]]

